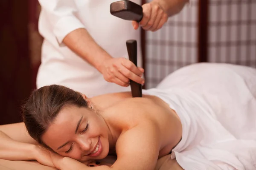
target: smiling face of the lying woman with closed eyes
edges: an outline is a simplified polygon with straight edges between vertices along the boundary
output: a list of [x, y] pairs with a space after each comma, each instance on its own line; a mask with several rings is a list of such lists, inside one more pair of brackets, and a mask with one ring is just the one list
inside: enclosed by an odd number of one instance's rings
[[68, 106], [62, 109], [42, 136], [42, 141], [61, 156], [79, 161], [108, 155], [108, 126], [95, 111]]

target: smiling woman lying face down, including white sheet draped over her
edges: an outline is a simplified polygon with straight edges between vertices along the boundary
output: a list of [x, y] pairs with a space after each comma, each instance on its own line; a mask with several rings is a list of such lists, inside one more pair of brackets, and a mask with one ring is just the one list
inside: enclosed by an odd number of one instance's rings
[[[1, 126], [0, 159], [60, 170], [154, 170], [169, 155], [185, 170], [255, 170], [256, 69], [189, 65], [143, 90], [143, 98], [89, 99], [45, 86], [26, 102], [23, 120], [32, 138], [21, 123]], [[84, 164], [115, 154], [111, 166]]]

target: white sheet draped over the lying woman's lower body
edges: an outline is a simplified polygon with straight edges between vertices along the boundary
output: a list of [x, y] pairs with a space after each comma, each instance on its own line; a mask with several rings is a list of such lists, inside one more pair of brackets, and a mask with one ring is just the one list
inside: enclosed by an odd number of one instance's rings
[[185, 170], [256, 170], [256, 69], [189, 65], [143, 93], [180, 116], [183, 138], [172, 159]]

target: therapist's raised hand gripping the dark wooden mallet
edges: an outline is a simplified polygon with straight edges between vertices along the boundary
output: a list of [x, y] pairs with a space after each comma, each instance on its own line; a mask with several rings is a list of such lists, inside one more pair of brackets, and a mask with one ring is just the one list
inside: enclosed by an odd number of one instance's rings
[[[145, 3], [143, 6], [143, 18], [140, 26], [147, 31], [157, 31], [167, 22], [168, 15], [156, 1]], [[139, 28], [139, 23], [132, 21], [134, 29]]]

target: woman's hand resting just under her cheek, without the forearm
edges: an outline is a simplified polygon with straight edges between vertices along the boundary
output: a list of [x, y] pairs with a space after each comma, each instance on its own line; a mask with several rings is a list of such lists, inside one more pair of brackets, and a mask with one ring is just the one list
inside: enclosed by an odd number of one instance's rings
[[49, 167], [55, 167], [51, 159], [51, 155], [50, 155], [51, 153], [52, 152], [47, 150], [46, 148], [40, 145], [35, 145], [34, 157], [40, 164], [43, 164]]

